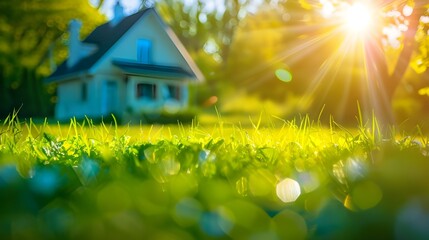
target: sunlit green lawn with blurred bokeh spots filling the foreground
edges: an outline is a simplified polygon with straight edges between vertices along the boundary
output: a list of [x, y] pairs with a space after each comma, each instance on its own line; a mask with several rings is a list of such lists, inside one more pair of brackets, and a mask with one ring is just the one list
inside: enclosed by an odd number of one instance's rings
[[249, 122], [63, 126], [11, 116], [0, 126], [0, 238], [429, 237], [422, 134]]

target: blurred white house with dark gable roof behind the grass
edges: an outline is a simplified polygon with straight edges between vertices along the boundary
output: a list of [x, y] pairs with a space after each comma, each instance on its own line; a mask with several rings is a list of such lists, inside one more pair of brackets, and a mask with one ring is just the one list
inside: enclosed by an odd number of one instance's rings
[[154, 8], [114, 17], [79, 40], [70, 23], [69, 57], [47, 79], [57, 84], [55, 117], [139, 118], [190, 107], [191, 84], [204, 77], [178, 37]]

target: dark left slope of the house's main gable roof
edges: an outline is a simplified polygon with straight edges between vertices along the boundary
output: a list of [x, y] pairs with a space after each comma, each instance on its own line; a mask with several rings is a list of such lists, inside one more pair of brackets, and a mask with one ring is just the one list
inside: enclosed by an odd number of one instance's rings
[[53, 82], [67, 77], [68, 75], [89, 70], [149, 9], [150, 8], [125, 17], [114, 26], [112, 26], [110, 22], [107, 22], [97, 27], [82, 41], [83, 43], [96, 44], [97, 50], [91, 55], [82, 58], [71, 68], [67, 67], [67, 60], [64, 61], [57, 70], [46, 79], [47, 82]]

